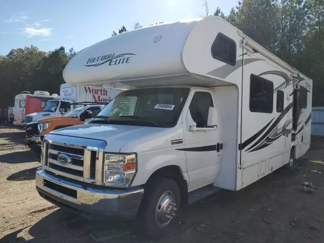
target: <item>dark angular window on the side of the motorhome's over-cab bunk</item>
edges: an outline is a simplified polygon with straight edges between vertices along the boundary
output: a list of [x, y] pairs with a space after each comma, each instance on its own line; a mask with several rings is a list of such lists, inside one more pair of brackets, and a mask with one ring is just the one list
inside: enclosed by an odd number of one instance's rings
[[234, 66], [236, 64], [236, 43], [226, 35], [218, 33], [212, 45], [212, 57]]

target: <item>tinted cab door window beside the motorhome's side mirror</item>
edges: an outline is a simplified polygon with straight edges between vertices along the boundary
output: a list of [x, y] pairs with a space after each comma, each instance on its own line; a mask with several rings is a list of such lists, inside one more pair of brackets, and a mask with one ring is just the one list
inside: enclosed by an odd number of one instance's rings
[[212, 96], [207, 92], [194, 93], [189, 111], [197, 128], [206, 128], [208, 120], [209, 107], [214, 107]]

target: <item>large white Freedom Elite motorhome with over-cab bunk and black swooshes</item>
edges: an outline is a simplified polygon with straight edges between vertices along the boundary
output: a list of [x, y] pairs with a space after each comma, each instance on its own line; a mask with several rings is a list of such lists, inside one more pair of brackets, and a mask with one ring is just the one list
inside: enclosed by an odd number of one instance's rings
[[110, 37], [63, 75], [128, 90], [44, 138], [36, 189], [79, 214], [136, 218], [149, 236], [168, 233], [193, 195], [240, 190], [310, 146], [312, 80], [219, 17]]

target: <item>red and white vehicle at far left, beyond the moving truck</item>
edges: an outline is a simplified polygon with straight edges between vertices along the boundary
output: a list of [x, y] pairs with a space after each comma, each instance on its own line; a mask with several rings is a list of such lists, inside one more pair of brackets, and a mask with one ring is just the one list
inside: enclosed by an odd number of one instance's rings
[[50, 95], [47, 91], [35, 91], [34, 94], [29, 91], [21, 92], [15, 96], [13, 124], [23, 126], [27, 114], [43, 110], [48, 100], [58, 99], [60, 97], [57, 94]]

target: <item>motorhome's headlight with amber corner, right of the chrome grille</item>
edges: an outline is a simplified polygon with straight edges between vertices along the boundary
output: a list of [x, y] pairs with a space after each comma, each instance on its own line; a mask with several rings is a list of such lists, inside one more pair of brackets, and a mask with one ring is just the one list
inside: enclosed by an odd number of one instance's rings
[[136, 154], [105, 154], [104, 185], [128, 187], [136, 172]]

